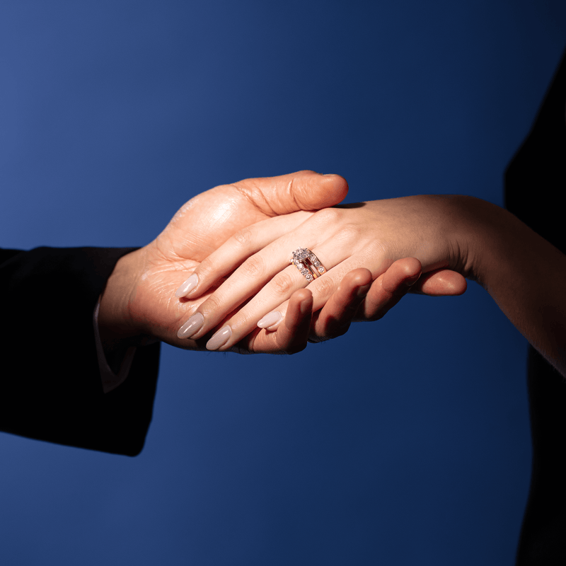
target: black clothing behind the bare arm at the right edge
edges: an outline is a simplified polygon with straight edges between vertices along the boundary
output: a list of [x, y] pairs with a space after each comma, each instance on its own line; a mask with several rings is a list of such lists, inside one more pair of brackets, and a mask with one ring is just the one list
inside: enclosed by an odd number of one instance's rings
[[[562, 253], [566, 253], [565, 112], [566, 53], [533, 129], [505, 175], [507, 209]], [[529, 347], [528, 381], [533, 469], [516, 564], [564, 566], [566, 381], [533, 347]]]

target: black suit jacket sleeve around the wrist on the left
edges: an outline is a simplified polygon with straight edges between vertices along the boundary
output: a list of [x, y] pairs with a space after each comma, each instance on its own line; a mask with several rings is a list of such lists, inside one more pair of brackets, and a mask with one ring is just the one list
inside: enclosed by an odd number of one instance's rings
[[151, 422], [159, 344], [103, 393], [93, 310], [135, 248], [0, 249], [0, 430], [135, 456]]

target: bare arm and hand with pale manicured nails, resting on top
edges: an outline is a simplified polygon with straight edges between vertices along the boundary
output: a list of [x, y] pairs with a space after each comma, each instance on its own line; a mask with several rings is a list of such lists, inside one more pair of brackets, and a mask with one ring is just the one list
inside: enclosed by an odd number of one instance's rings
[[[327, 269], [308, 285], [313, 308], [331, 305], [315, 319], [315, 334], [339, 331], [337, 323], [328, 321], [332, 310], [342, 330], [346, 319], [383, 316], [403, 295], [400, 272], [429, 274], [421, 291], [444, 277], [463, 292], [465, 285], [455, 277], [459, 274], [482, 285], [531, 345], [566, 375], [566, 256], [508, 211], [474, 197], [420, 195], [290, 214], [286, 221], [284, 226], [279, 219], [273, 229], [269, 221], [246, 229], [244, 238], [231, 238], [197, 268], [199, 284], [190, 297], [241, 264], [197, 309], [204, 324], [193, 338], [206, 335], [234, 304], [250, 296], [236, 314], [222, 320], [231, 328], [228, 340], [221, 345], [212, 340], [209, 348], [229, 349], [265, 314], [284, 313], [287, 296], [305, 283], [296, 267], [284, 265], [292, 250], [307, 247]], [[362, 286], [374, 280], [357, 306], [352, 289], [340, 289], [348, 272]], [[405, 287], [410, 279], [405, 277]], [[347, 316], [340, 314], [340, 293]]]

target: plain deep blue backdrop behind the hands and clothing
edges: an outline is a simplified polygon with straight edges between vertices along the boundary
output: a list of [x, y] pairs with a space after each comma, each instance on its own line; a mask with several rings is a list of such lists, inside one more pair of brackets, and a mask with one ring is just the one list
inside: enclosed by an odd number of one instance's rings
[[[304, 168], [502, 204], [565, 44], [561, 0], [3, 1], [0, 245], [142, 246]], [[473, 283], [292, 357], [165, 346], [141, 456], [0, 435], [0, 560], [512, 565], [525, 356]]]

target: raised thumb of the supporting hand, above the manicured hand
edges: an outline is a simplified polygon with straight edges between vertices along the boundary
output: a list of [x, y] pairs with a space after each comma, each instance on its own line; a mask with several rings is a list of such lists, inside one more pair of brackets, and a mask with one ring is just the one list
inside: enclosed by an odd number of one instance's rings
[[246, 179], [234, 185], [268, 216], [333, 207], [348, 192], [345, 178], [314, 171]]

